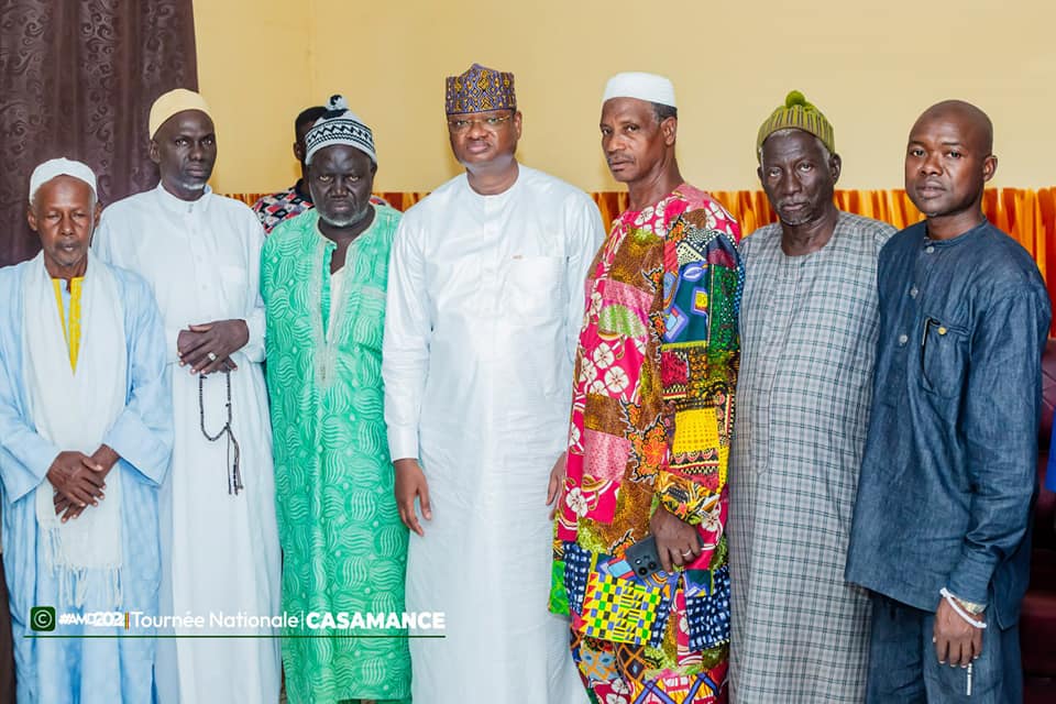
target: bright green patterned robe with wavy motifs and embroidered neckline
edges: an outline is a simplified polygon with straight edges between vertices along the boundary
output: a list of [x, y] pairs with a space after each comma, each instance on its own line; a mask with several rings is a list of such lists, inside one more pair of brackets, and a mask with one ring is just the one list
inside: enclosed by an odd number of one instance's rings
[[[407, 530], [393, 497], [382, 386], [385, 282], [399, 212], [375, 206], [374, 222], [349, 245], [333, 320], [334, 244], [318, 220], [309, 210], [279, 224], [261, 262], [283, 608], [403, 613]], [[286, 635], [326, 632], [374, 637], [284, 639], [292, 703], [409, 698], [406, 631], [301, 624]]]

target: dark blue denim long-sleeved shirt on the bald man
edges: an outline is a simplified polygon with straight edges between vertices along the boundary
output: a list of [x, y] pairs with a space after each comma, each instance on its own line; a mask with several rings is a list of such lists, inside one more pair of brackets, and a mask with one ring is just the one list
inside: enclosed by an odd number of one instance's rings
[[[1015, 623], [1026, 590], [1048, 294], [990, 222], [895, 234], [847, 580], [925, 610], [939, 590]], [[992, 607], [992, 608], [991, 608]]]

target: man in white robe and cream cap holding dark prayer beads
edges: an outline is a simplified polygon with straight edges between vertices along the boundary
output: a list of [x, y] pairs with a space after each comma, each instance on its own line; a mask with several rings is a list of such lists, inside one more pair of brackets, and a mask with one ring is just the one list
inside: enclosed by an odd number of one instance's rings
[[[94, 246], [147, 279], [165, 320], [176, 441], [162, 492], [163, 613], [190, 612], [207, 623], [210, 614], [277, 615], [280, 558], [261, 369], [264, 233], [246, 206], [206, 185], [217, 142], [200, 96], [162, 96], [150, 129], [161, 184], [107, 208]], [[166, 639], [158, 662], [163, 704], [278, 698], [276, 639]]]

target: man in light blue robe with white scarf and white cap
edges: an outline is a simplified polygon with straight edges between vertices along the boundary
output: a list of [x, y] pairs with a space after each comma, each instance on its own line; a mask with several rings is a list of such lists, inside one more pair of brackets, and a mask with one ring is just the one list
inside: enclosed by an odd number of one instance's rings
[[[116, 616], [158, 610], [157, 495], [173, 442], [164, 331], [146, 283], [89, 254], [95, 188], [85, 164], [41, 164], [29, 220], [42, 252], [0, 270], [3, 559], [19, 702], [150, 702], [154, 688], [154, 640], [143, 637], [153, 628], [125, 630]], [[106, 618], [62, 618], [92, 613]]]

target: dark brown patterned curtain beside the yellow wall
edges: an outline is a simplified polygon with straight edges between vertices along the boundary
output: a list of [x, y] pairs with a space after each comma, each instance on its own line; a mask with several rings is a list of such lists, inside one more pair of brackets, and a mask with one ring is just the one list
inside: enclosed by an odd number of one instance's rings
[[41, 162], [91, 166], [105, 205], [157, 183], [147, 113], [198, 87], [191, 0], [0, 1], [0, 265], [38, 250], [25, 223]]

